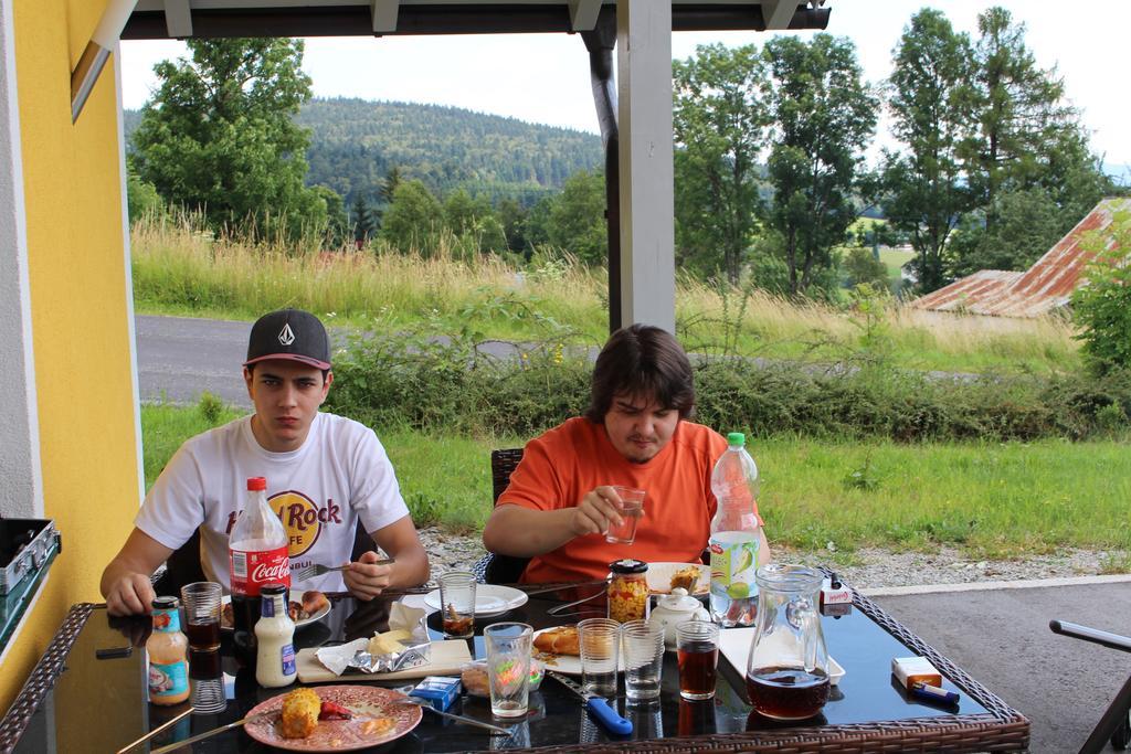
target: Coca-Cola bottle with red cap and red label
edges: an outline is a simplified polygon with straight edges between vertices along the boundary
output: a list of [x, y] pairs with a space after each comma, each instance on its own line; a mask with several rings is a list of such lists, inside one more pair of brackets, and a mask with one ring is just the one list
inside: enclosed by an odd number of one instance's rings
[[248, 502], [228, 536], [228, 558], [235, 657], [242, 665], [254, 667], [259, 590], [269, 583], [291, 588], [286, 529], [267, 504], [264, 477], [248, 479]]

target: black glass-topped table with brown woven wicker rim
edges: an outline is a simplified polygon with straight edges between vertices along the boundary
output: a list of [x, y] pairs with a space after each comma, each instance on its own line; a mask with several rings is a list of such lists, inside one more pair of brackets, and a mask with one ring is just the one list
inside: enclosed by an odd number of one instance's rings
[[[520, 587], [534, 591], [537, 586]], [[588, 589], [601, 589], [588, 587]], [[363, 635], [386, 627], [389, 608], [398, 599], [415, 599], [426, 590], [389, 592], [370, 603], [348, 595], [330, 595], [333, 609], [322, 621], [295, 634], [295, 648], [317, 647]], [[536, 630], [581, 617], [604, 614], [598, 596], [580, 605], [573, 615], [547, 614], [578, 593], [562, 586], [560, 591], [532, 595], [525, 605], [486, 619], [477, 619], [476, 638], [468, 649], [484, 655], [483, 626], [498, 621], [529, 623]], [[761, 718], [746, 702], [745, 667], [733, 667], [720, 658], [714, 700], [688, 702], [679, 696], [674, 652], [668, 652], [663, 670], [663, 693], [658, 702], [644, 707], [625, 703], [623, 682], [614, 704], [633, 723], [627, 737], [611, 736], [590, 718], [576, 696], [558, 682], [546, 678], [530, 695], [530, 712], [513, 725], [510, 736], [491, 736], [477, 728], [442, 720], [425, 713], [421, 723], [403, 737], [372, 751], [457, 752], [543, 748], [552, 752], [602, 751], [788, 751], [866, 752], [933, 751], [979, 752], [1024, 751], [1028, 747], [1029, 721], [961, 668], [926, 645], [907, 627], [887, 615], [866, 597], [854, 591], [854, 609], [839, 617], [823, 616], [822, 627], [829, 653], [845, 669], [821, 714], [801, 723], [782, 723]], [[437, 615], [430, 630], [439, 629]], [[71, 607], [51, 644], [28, 677], [16, 702], [0, 722], [0, 751], [18, 753], [116, 752], [185, 709], [187, 702], [158, 708], [146, 702], [146, 616], [112, 618], [104, 605], [81, 603]], [[746, 630], [752, 631], [752, 630]], [[724, 632], [726, 633], [726, 632]], [[439, 638], [439, 633], [435, 634]], [[100, 649], [131, 647], [126, 657], [97, 659]], [[149, 742], [157, 747], [215, 728], [243, 717], [260, 702], [290, 688], [260, 688], [247, 671], [238, 671], [231, 642], [224, 639], [227, 709], [219, 714], [188, 716]], [[122, 652], [119, 652], [121, 655]], [[105, 652], [104, 652], [105, 655]], [[733, 655], [733, 652], [732, 652]], [[944, 685], [958, 691], [958, 708], [940, 708], [908, 697], [890, 673], [893, 657], [922, 655], [943, 674]], [[734, 664], [742, 666], [742, 658]], [[374, 676], [344, 675], [337, 683], [404, 686], [406, 682], [374, 682]], [[492, 720], [485, 699], [463, 696], [452, 712], [486, 722]], [[135, 751], [148, 751], [138, 747]], [[266, 752], [274, 751], [253, 740], [241, 729], [231, 730], [183, 751]]]

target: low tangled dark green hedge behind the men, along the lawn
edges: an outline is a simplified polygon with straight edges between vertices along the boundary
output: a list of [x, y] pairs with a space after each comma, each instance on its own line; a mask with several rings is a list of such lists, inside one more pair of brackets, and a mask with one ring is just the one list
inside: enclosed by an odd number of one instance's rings
[[[497, 358], [475, 333], [365, 336], [335, 361], [327, 408], [379, 426], [529, 437], [589, 399], [592, 363], [555, 341]], [[882, 359], [817, 367], [697, 359], [697, 421], [756, 436], [897, 442], [1110, 436], [1131, 415], [1131, 373], [938, 376]]]

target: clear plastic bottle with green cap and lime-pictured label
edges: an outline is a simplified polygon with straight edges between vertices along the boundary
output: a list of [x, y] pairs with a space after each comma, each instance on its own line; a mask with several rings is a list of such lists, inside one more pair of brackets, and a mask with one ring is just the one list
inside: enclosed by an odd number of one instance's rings
[[718, 501], [710, 522], [710, 612], [716, 623], [731, 627], [754, 623], [761, 527], [754, 515], [758, 467], [746, 452], [746, 436], [732, 432], [726, 441], [710, 475]]

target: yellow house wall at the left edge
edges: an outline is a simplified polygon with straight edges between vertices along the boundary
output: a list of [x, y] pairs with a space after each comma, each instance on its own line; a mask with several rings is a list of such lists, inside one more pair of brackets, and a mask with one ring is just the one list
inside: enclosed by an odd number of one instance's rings
[[63, 552], [0, 668], [0, 709], [68, 607], [101, 600], [138, 506], [113, 58], [70, 122], [70, 69], [103, 7], [14, 2], [43, 497]]

